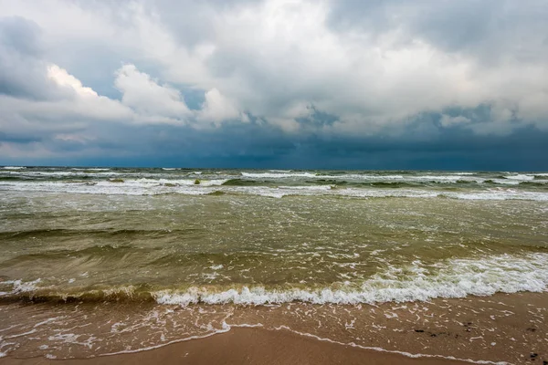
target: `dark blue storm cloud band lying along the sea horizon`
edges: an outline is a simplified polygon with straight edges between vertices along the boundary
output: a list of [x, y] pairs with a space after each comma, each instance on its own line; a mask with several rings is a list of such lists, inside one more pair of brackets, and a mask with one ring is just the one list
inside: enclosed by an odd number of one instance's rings
[[[439, 118], [439, 115], [424, 116], [403, 133], [385, 138], [333, 137], [321, 133], [290, 136], [255, 122], [207, 131], [177, 126], [122, 128], [116, 125], [96, 141], [42, 141], [49, 150], [68, 157], [33, 161], [70, 164], [74, 158], [69, 152], [96, 149], [98, 153], [94, 157], [84, 155], [76, 161], [90, 165], [99, 162], [183, 167], [258, 168], [266, 165], [295, 169], [548, 169], [544, 158], [548, 155], [545, 143], [548, 133], [545, 131], [523, 127], [510, 135], [477, 135], [460, 127], [440, 129]], [[425, 124], [433, 130], [427, 139], [416, 132], [416, 126]], [[132, 152], [127, 154], [128, 151]]]

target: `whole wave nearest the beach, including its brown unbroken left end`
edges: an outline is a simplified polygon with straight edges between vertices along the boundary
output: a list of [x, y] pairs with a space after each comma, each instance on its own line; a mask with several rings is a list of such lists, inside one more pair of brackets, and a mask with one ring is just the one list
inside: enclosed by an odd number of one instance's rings
[[155, 301], [164, 305], [199, 303], [267, 305], [293, 301], [311, 304], [360, 304], [429, 300], [436, 297], [490, 296], [548, 287], [548, 254], [496, 255], [447, 259], [435, 265], [416, 260], [388, 266], [362, 283], [333, 283], [332, 287], [187, 287], [153, 288], [149, 284], [58, 292], [40, 287], [41, 279], [0, 282], [0, 301]]

